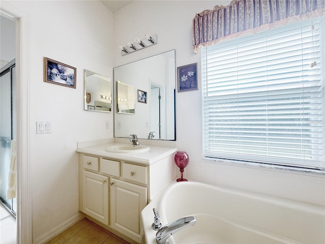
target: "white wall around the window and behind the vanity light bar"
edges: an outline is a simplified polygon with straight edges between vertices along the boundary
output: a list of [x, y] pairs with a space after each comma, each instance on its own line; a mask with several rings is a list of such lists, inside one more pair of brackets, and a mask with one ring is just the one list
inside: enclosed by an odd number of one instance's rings
[[[198, 63], [200, 51], [191, 51], [191, 20], [216, 4], [231, 1], [135, 1], [114, 13], [114, 66], [176, 49], [176, 66]], [[158, 44], [121, 56], [119, 45], [157, 34]], [[199, 74], [200, 76], [200, 74]], [[201, 87], [201, 83], [199, 83]], [[209, 184], [230, 186], [248, 191], [325, 205], [323, 175], [288, 170], [265, 169], [202, 159], [201, 88], [176, 94], [177, 147], [189, 154], [185, 177]]]

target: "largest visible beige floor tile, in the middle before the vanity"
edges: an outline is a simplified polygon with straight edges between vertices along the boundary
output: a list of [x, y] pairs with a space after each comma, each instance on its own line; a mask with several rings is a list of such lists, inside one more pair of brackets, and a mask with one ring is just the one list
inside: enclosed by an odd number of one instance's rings
[[77, 234], [68, 239], [64, 244], [82, 244], [82, 243], [93, 243], [101, 244], [103, 243], [110, 235], [106, 232], [100, 230], [99, 228], [90, 225], [87, 228], [83, 228]]

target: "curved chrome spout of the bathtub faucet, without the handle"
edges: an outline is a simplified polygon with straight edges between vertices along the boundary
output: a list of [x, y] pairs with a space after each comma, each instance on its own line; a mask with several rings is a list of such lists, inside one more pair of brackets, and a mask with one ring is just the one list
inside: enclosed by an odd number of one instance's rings
[[196, 219], [192, 216], [175, 220], [157, 231], [156, 242], [158, 244], [167, 244], [168, 237], [187, 226], [195, 225], [195, 223]]

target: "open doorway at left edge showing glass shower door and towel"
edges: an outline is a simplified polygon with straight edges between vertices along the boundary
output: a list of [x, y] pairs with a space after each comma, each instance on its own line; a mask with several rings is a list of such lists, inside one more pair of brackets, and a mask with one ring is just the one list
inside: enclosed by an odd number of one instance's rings
[[[0, 205], [1, 242], [17, 242], [16, 198], [16, 19], [1, 14]], [[14, 171], [12, 171], [14, 169]]]

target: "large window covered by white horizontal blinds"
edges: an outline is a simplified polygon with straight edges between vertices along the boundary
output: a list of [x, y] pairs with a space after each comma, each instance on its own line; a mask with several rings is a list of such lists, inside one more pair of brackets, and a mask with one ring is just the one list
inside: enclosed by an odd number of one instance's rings
[[324, 43], [321, 16], [202, 48], [204, 157], [323, 170]]

